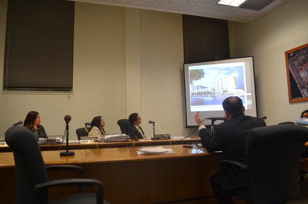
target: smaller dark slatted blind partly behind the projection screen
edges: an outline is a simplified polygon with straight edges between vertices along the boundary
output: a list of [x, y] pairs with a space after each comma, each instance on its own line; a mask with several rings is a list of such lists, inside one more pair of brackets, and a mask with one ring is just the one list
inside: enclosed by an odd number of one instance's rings
[[228, 21], [183, 14], [184, 63], [230, 58]]

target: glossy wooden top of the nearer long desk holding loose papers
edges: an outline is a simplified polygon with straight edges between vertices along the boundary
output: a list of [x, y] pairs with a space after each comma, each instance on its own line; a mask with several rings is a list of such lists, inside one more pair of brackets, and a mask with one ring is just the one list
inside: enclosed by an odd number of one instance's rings
[[[96, 162], [119, 162], [133, 160], [151, 160], [164, 158], [181, 158], [189, 156], [205, 156], [213, 155], [207, 153], [205, 149], [192, 149], [183, 147], [182, 145], [162, 146], [165, 149], [172, 149], [175, 154], [160, 154], [160, 155], [138, 155], [137, 147], [122, 147], [110, 149], [85, 149], [74, 150], [74, 156], [60, 156], [60, 151], [45, 151], [42, 152], [46, 165], [50, 164], [78, 164], [78, 163], [96, 163]], [[0, 153], [0, 168], [13, 167], [13, 153]]]

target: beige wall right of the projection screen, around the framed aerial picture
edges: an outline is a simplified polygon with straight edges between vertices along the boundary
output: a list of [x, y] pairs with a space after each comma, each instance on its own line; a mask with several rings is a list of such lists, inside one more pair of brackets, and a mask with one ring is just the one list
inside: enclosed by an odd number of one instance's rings
[[295, 121], [308, 102], [289, 103], [284, 51], [308, 43], [308, 1], [291, 0], [252, 24], [230, 22], [232, 57], [254, 55], [259, 116]]

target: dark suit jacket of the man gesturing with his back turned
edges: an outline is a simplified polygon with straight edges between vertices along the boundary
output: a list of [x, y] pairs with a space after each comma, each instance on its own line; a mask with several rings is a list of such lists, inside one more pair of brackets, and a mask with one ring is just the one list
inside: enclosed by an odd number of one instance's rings
[[[266, 126], [261, 118], [239, 114], [215, 127], [215, 137], [210, 136], [208, 129], [201, 129], [199, 136], [202, 145], [208, 152], [222, 151], [224, 159], [244, 163], [247, 133], [255, 127]], [[222, 188], [233, 190], [245, 188], [244, 174], [236, 168], [225, 171]]]

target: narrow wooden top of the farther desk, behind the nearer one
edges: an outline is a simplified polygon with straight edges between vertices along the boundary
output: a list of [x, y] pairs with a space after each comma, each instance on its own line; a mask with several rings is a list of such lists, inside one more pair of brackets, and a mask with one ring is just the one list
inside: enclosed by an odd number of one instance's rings
[[[185, 139], [185, 140], [170, 140], [171, 144], [187, 144], [189, 142], [200, 141], [199, 139]], [[168, 140], [140, 140], [140, 141], [128, 141], [128, 142], [97, 142], [99, 148], [110, 147], [132, 147], [132, 146], [152, 146], [152, 145], [168, 145]], [[48, 144], [40, 145], [41, 151], [55, 151], [60, 150], [61, 144]], [[95, 143], [70, 143], [69, 150], [80, 149], [97, 149]], [[62, 144], [61, 150], [65, 150], [65, 144]], [[0, 152], [12, 152], [8, 145], [0, 145]]]

